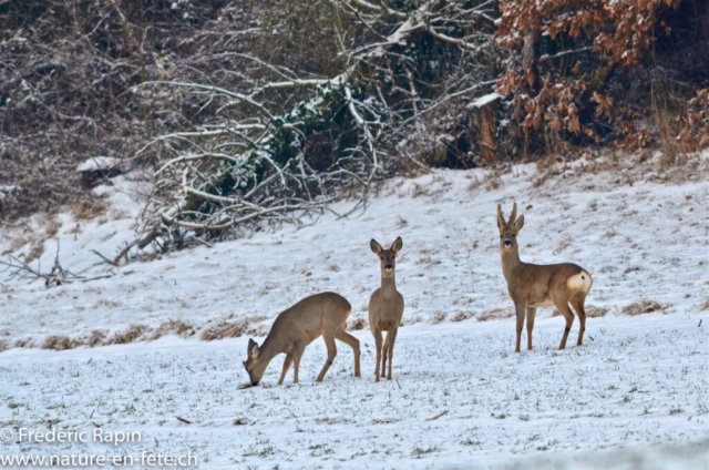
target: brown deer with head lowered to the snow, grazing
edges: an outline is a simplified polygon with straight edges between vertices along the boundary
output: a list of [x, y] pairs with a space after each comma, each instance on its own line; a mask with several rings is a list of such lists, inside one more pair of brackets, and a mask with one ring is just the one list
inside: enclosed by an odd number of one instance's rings
[[244, 361], [244, 367], [248, 372], [253, 386], [257, 386], [268, 362], [281, 352], [286, 354], [284, 370], [280, 372], [278, 385], [284, 382], [286, 372], [294, 364], [294, 384], [298, 384], [298, 366], [300, 358], [306, 350], [306, 346], [316, 340], [320, 335], [325, 339], [328, 348], [328, 360], [322, 366], [320, 375], [316, 381], [322, 381], [335, 356], [337, 347], [335, 340], [339, 339], [352, 347], [354, 351], [354, 377], [360, 376], [359, 371], [359, 340], [345, 331], [345, 323], [352, 311], [352, 306], [345, 297], [335, 293], [316, 294], [306, 297], [292, 307], [282, 311], [274, 321], [268, 336], [259, 347], [255, 340], [248, 340], [248, 359]]

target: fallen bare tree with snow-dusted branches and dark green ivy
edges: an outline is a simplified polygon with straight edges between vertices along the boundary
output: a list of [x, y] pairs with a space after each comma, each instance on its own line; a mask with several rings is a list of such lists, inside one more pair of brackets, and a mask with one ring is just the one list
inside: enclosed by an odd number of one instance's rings
[[[464, 104], [494, 83], [492, 2], [428, 0], [407, 11], [346, 0], [284, 4], [298, 28], [326, 32], [312, 62], [288, 53], [287, 19], [261, 18], [265, 28], [238, 31], [244, 51], [198, 59], [228, 58], [228, 69], [134, 88], [145, 101], [193, 100], [210, 111], [135, 154], [157, 162], [155, 191], [143, 232], [116, 263], [153, 241], [165, 249], [301, 224], [336, 197], [354, 197], [359, 208], [383, 177], [424, 166], [441, 122], [464, 127]], [[219, 85], [223, 75], [237, 80]], [[459, 137], [443, 141], [454, 147]]]

